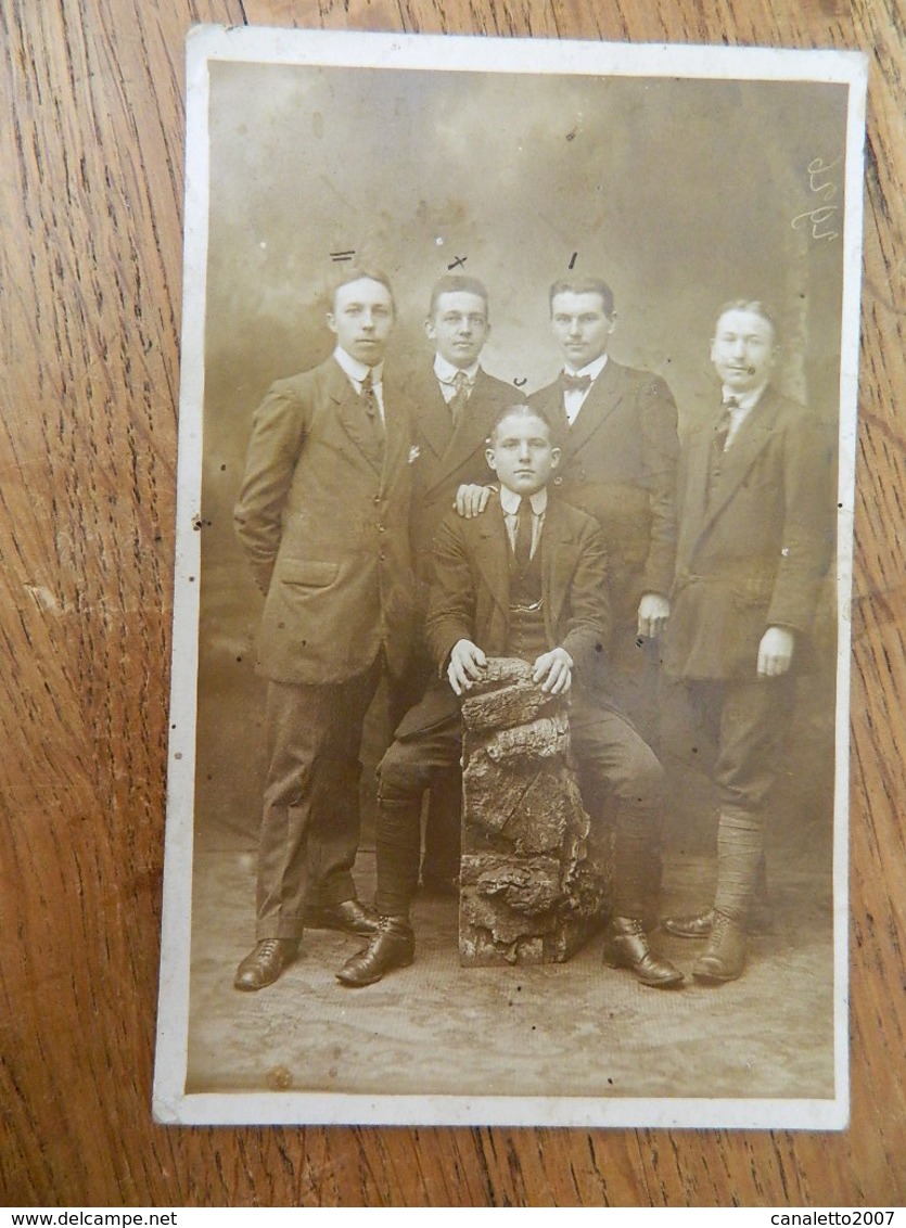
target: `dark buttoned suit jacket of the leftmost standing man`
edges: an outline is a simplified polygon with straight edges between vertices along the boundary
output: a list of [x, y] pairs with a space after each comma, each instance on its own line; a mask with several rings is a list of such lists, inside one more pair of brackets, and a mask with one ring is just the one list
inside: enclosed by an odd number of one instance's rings
[[385, 449], [338, 362], [271, 386], [254, 415], [236, 505], [265, 592], [258, 643], [275, 682], [338, 683], [382, 646], [401, 672], [412, 630], [408, 408], [384, 395]]

